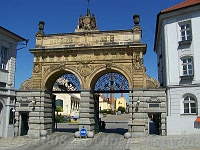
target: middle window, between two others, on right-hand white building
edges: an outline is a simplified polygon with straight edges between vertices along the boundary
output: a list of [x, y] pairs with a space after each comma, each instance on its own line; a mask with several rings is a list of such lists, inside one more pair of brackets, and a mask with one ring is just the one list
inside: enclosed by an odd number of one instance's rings
[[182, 59], [183, 76], [193, 75], [193, 61], [192, 58]]

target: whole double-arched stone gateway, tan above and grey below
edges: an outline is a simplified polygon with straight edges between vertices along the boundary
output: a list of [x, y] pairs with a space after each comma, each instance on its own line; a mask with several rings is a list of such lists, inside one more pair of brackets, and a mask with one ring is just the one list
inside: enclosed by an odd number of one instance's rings
[[[88, 17], [86, 16], [86, 20]], [[138, 19], [138, 16], [136, 15], [134, 18]], [[44, 26], [43, 22], [40, 22], [39, 25]], [[34, 55], [32, 77], [22, 84], [21, 91], [17, 91], [16, 96], [16, 104], [20, 106], [19, 110], [28, 110], [32, 113], [29, 118], [31, 129], [28, 132], [29, 136], [39, 137], [42, 132], [51, 134], [54, 131], [55, 108], [52, 106], [55, 106], [56, 96], [52, 92], [52, 88], [59, 77], [68, 73], [74, 74], [81, 86], [79, 91], [81, 97], [79, 130], [84, 124], [88, 131], [96, 131], [95, 115], [99, 113], [95, 114], [95, 108], [98, 109], [98, 105], [95, 104], [97, 104], [98, 96], [92, 90], [98, 79], [107, 73], [118, 73], [126, 78], [132, 107], [130, 113], [133, 114], [135, 110], [133, 104], [138, 98], [138, 96], [133, 97], [134, 91], [142, 100], [144, 99], [143, 95], [140, 95], [142, 92], [137, 93], [137, 90], [159, 87], [157, 80], [146, 75], [146, 69], [143, 66], [146, 44], [141, 42], [141, 35], [139, 22], [132, 30], [118, 31], [88, 32], [80, 28], [74, 33], [45, 34], [43, 28], [39, 28], [36, 33], [36, 45], [30, 49]], [[155, 91], [151, 92], [150, 90], [146, 95], [152, 93], [152, 97], [156, 99]], [[28, 107], [21, 107], [21, 104], [24, 103], [28, 103]], [[143, 109], [144, 105], [140, 106]], [[41, 110], [43, 113], [40, 113]], [[16, 117], [17, 130], [20, 128], [19, 118], [19, 116]], [[140, 121], [144, 121], [143, 117], [140, 119]], [[133, 120], [130, 122], [129, 130], [132, 132]], [[137, 121], [135, 123], [136, 126], [141, 126], [137, 124]], [[40, 125], [40, 130], [35, 128], [35, 124]]]

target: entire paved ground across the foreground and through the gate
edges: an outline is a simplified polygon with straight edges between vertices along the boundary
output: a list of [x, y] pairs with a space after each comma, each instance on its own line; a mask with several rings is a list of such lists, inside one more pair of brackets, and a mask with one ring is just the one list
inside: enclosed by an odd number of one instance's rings
[[123, 119], [121, 122], [113, 120], [112, 116], [104, 119], [106, 129], [94, 138], [74, 138], [74, 130], [78, 126], [73, 129], [70, 125], [61, 124], [60, 127], [65, 129], [60, 131], [69, 132], [55, 132], [46, 140], [30, 139], [26, 136], [0, 139], [0, 150], [200, 150], [199, 135], [149, 135], [125, 139], [123, 135], [127, 132], [127, 124]]

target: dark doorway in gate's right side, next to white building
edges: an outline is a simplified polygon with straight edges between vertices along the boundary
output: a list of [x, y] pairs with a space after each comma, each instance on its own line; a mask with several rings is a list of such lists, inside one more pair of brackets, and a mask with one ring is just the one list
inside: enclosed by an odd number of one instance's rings
[[161, 134], [161, 113], [148, 113], [149, 134]]

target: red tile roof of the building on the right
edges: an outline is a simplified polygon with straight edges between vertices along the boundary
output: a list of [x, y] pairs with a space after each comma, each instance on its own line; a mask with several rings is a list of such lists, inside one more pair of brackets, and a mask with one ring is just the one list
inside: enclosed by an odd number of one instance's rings
[[196, 4], [200, 4], [200, 0], [186, 0], [180, 4], [177, 4], [175, 6], [167, 8], [165, 10], [162, 10], [161, 13], [173, 11], [176, 9], [180, 9], [180, 8], [184, 8], [184, 7], [188, 7], [188, 6], [192, 6], [192, 5], [196, 5]]

